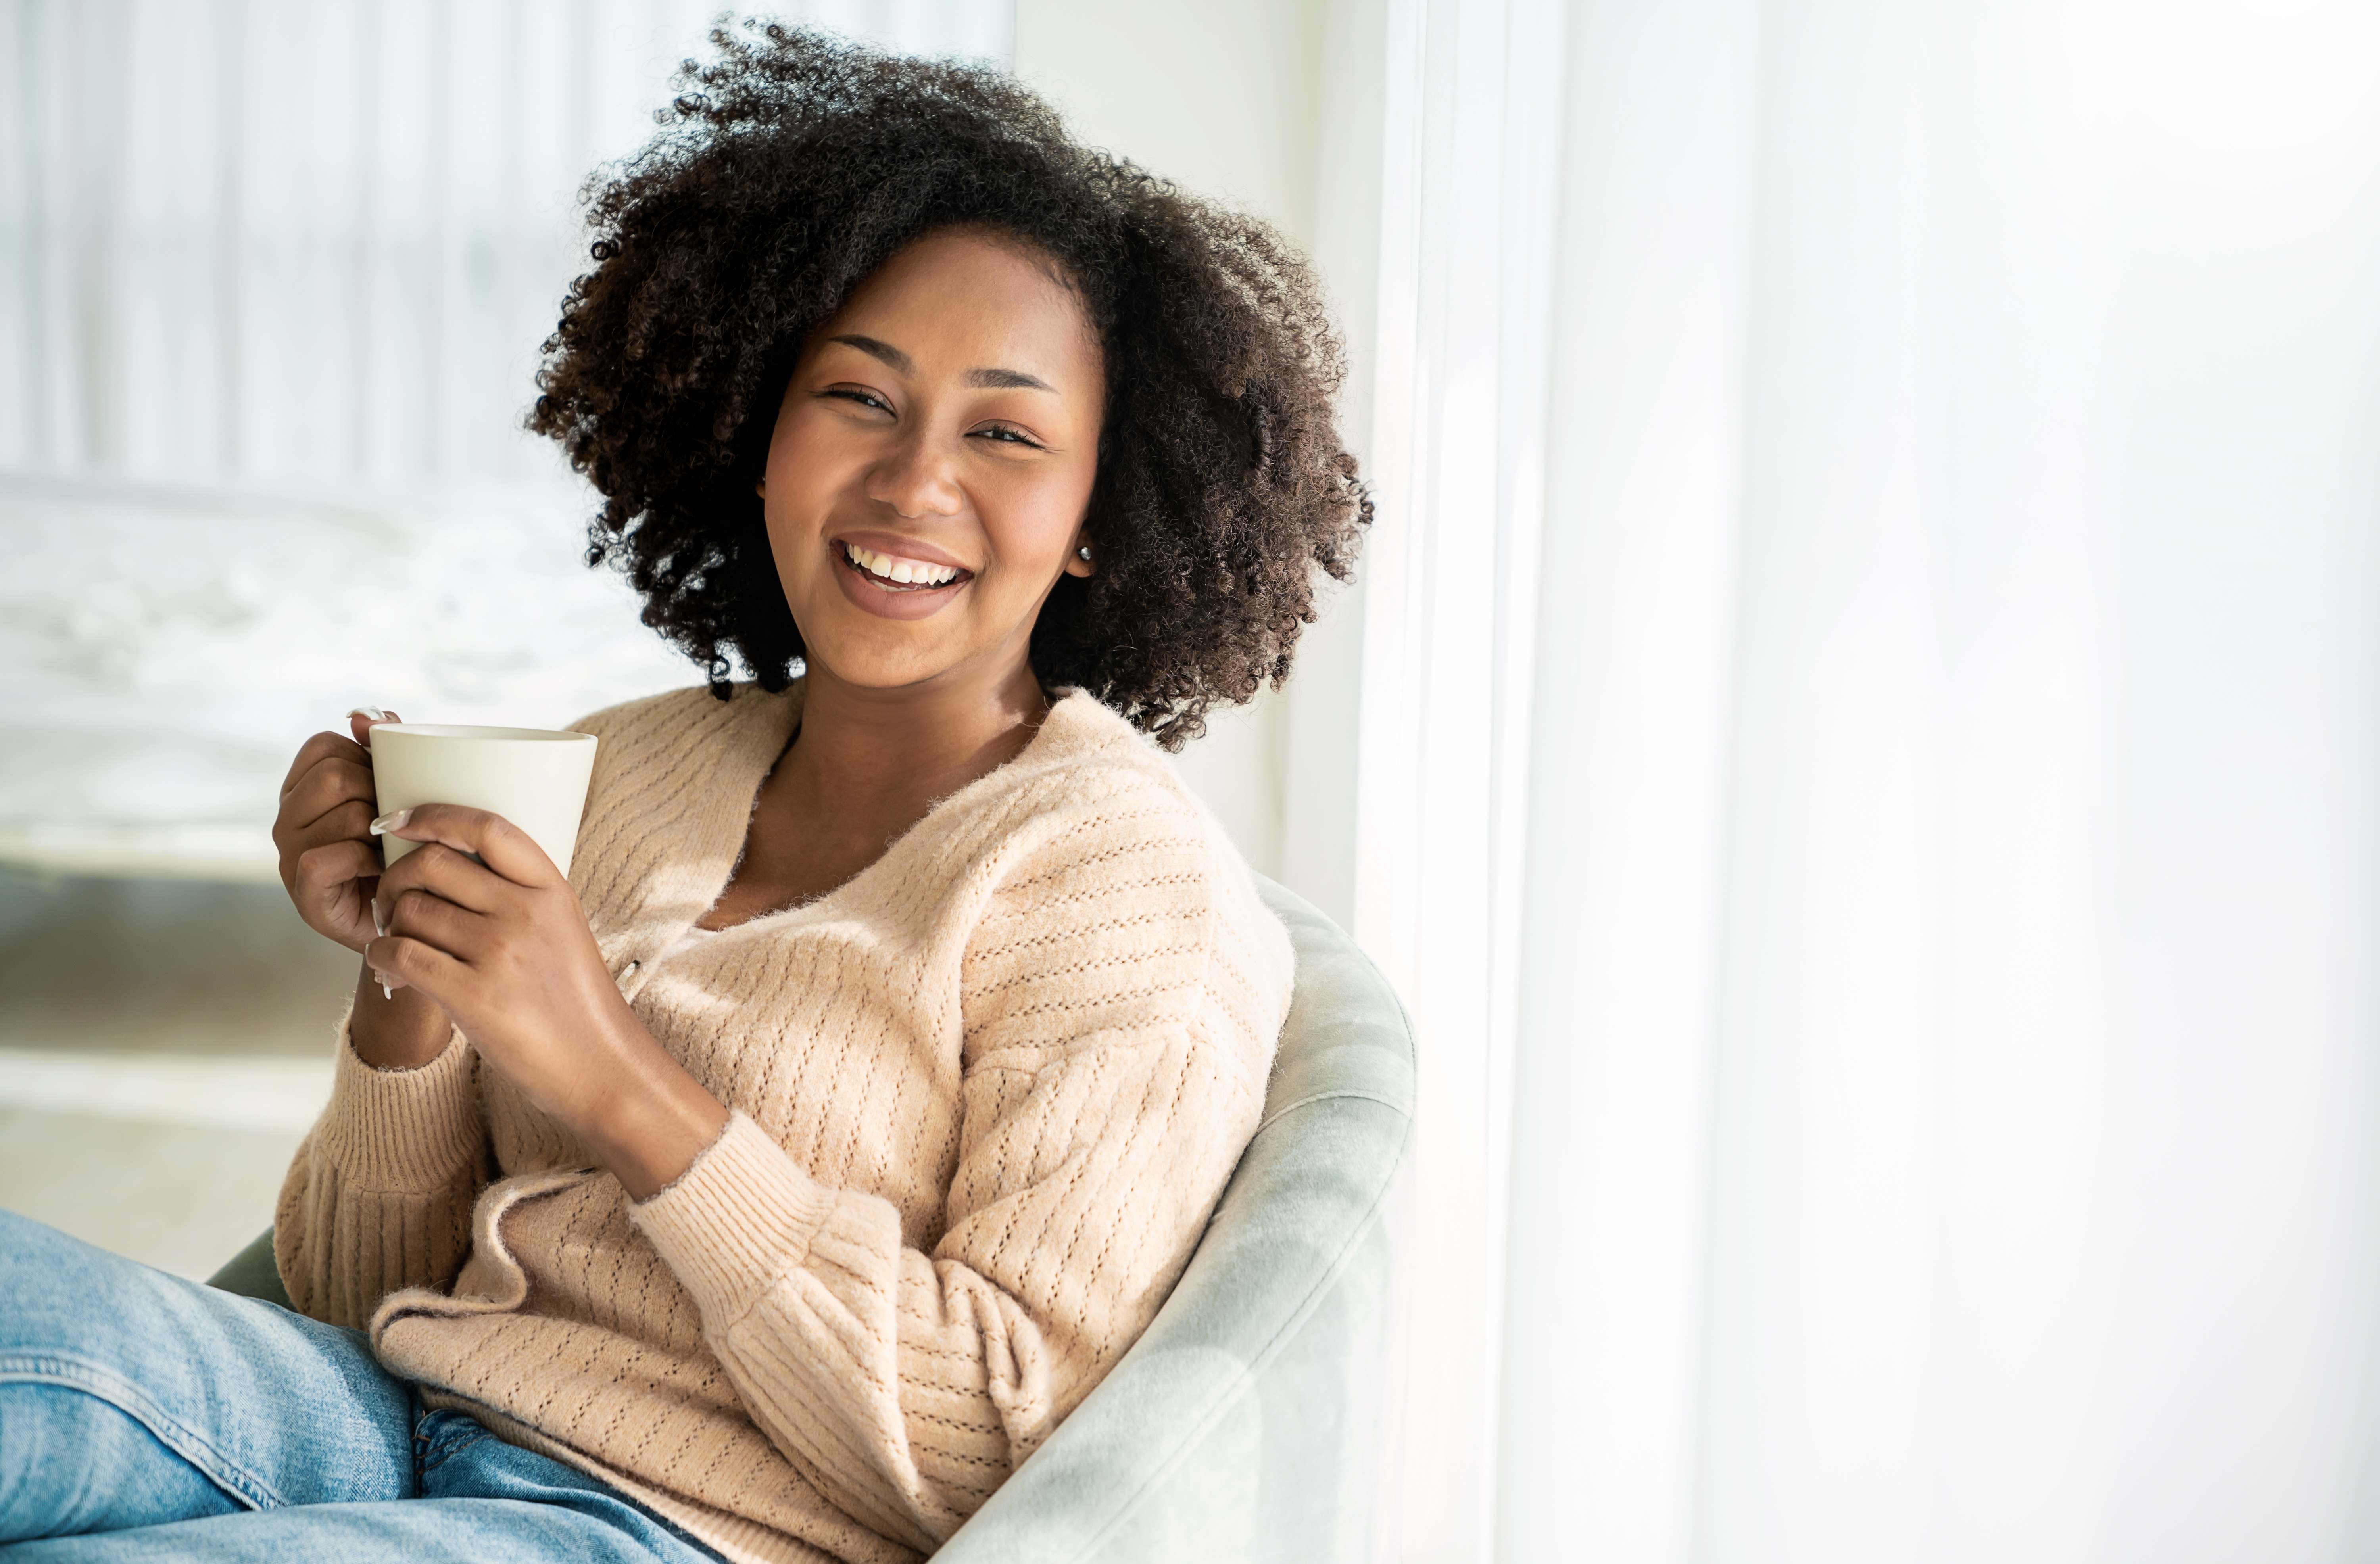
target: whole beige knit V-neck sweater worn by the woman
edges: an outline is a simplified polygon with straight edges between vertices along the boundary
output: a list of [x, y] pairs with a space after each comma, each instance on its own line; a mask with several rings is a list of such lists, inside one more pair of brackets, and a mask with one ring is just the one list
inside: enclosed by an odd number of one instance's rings
[[1140, 1335], [1257, 1126], [1290, 943], [1164, 757], [1083, 693], [831, 895], [657, 957], [719, 897], [785, 695], [602, 745], [571, 881], [638, 1016], [733, 1109], [619, 1181], [459, 1036], [340, 1024], [281, 1190], [295, 1305], [733, 1559], [912, 1559]]

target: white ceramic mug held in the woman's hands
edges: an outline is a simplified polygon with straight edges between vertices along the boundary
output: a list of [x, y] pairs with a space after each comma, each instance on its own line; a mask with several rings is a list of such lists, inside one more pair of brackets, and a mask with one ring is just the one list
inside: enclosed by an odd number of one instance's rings
[[[578, 814], [593, 774], [593, 733], [436, 721], [383, 721], [371, 728], [371, 783], [381, 814], [414, 805], [490, 809], [545, 847], [562, 874], [571, 871]], [[395, 867], [419, 845], [383, 836], [381, 862]]]

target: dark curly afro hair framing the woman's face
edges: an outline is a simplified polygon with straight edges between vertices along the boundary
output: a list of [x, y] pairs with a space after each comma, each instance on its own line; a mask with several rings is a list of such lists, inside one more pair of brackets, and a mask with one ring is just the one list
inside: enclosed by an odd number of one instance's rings
[[1290, 669], [1314, 571], [1347, 581], [1371, 500], [1338, 438], [1340, 340], [1266, 224], [1107, 152], [1007, 76], [802, 29], [712, 33], [662, 136], [595, 190], [595, 269], [545, 343], [528, 426], [602, 493], [588, 562], [731, 693], [785, 688], [802, 633], [754, 478], [812, 333], [914, 238], [1002, 231], [1071, 281], [1107, 359], [1085, 519], [1033, 669], [1166, 747]]

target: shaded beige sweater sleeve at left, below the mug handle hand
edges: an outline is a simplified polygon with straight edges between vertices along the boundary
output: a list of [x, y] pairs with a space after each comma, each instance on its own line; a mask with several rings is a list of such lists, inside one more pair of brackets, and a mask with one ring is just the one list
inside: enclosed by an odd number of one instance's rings
[[488, 1126], [462, 1033], [419, 1069], [374, 1069], [343, 1016], [331, 1105], [274, 1207], [281, 1285], [300, 1314], [357, 1328], [397, 1288], [452, 1285], [486, 1183]]

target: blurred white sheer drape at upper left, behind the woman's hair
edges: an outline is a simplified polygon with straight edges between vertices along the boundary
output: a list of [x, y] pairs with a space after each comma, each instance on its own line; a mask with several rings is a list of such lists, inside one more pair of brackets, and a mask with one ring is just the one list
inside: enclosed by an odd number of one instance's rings
[[[0, 469], [538, 478], [576, 193], [712, 0], [5, 0]], [[1009, 52], [1007, 0], [766, 7]]]

